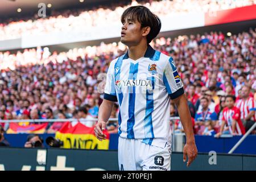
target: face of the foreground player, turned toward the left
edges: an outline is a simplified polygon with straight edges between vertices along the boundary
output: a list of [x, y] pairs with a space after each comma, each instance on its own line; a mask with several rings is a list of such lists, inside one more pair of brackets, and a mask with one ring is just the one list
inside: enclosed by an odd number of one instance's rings
[[121, 42], [126, 46], [137, 46], [143, 36], [143, 29], [141, 28], [141, 23], [137, 20], [131, 20], [126, 18], [123, 22], [122, 31], [121, 31]]

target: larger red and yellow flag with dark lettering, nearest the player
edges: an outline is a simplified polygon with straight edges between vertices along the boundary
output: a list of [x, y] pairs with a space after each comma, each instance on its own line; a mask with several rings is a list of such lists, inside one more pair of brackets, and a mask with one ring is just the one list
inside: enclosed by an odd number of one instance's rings
[[107, 137], [105, 140], [98, 140], [94, 134], [94, 127], [87, 127], [78, 122], [72, 127], [70, 122], [64, 123], [55, 138], [63, 141], [63, 148], [79, 148], [90, 150], [108, 150], [109, 133], [103, 132]]

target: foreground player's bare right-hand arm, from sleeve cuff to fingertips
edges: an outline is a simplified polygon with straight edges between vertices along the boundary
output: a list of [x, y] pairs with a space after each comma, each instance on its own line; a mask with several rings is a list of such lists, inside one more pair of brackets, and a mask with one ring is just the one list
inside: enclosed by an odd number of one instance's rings
[[195, 143], [195, 137], [193, 134], [191, 114], [190, 114], [187, 100], [184, 94], [175, 98], [174, 102], [177, 106], [180, 121], [182, 123], [183, 129], [186, 135], [186, 144], [183, 149], [183, 161], [185, 162], [188, 156], [188, 162], [187, 162], [187, 167], [188, 167], [193, 162], [193, 160], [195, 160], [197, 156], [197, 148]]

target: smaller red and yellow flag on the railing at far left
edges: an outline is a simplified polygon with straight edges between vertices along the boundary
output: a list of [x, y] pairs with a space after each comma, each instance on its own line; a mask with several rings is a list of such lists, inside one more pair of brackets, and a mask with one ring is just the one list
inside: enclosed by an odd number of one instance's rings
[[43, 124], [31, 124], [31, 125], [19, 125], [19, 123], [10, 123], [7, 134], [20, 134], [20, 133], [34, 133], [43, 134], [46, 131], [48, 123]]

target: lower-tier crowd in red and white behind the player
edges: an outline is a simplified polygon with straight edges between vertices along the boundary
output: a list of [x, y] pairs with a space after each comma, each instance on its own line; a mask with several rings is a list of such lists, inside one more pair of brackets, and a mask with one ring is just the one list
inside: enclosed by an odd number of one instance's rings
[[[175, 60], [195, 134], [242, 135], [255, 123], [255, 42], [256, 29], [228, 37], [210, 32], [151, 42]], [[110, 61], [125, 52], [121, 43], [60, 53], [51, 53], [47, 47], [16, 54], [0, 52], [0, 118], [97, 118], [104, 88], [102, 74]], [[174, 103], [170, 113], [178, 116]], [[112, 118], [117, 114], [115, 105]], [[174, 123], [175, 132], [183, 132], [180, 121]], [[49, 125], [47, 133], [55, 133], [62, 124]], [[93, 126], [94, 122], [84, 124]], [[3, 127], [6, 130], [8, 125]], [[110, 132], [116, 133], [117, 127], [117, 122], [109, 122]]]

